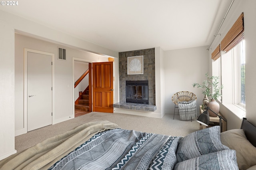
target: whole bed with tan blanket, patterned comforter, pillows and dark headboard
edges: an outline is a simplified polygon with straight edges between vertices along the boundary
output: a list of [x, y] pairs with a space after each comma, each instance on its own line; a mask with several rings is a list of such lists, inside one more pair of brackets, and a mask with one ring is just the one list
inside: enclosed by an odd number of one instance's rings
[[0, 161], [1, 170], [184, 170], [256, 168], [256, 127], [214, 126], [187, 136], [126, 130], [90, 122]]

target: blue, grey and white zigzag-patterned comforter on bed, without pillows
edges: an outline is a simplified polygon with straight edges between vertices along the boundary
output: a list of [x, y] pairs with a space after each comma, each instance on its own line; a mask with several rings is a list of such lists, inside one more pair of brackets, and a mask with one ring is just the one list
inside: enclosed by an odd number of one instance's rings
[[50, 170], [165, 170], [176, 164], [181, 137], [112, 129], [95, 134]]

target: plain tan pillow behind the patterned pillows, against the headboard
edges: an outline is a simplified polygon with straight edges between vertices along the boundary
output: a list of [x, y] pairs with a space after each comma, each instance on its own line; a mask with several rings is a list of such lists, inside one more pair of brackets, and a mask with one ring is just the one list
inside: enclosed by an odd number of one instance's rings
[[240, 170], [256, 165], [256, 147], [246, 138], [243, 129], [232, 129], [220, 133], [222, 144], [236, 150], [236, 159]]

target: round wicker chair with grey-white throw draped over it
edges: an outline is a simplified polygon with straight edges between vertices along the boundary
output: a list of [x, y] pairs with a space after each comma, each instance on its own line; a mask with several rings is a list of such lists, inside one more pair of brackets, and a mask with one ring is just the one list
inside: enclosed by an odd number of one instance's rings
[[196, 118], [196, 95], [189, 91], [179, 91], [174, 93], [172, 96], [172, 102], [175, 104], [173, 119], [175, 109], [178, 108], [178, 115], [180, 113], [181, 120], [188, 120]]

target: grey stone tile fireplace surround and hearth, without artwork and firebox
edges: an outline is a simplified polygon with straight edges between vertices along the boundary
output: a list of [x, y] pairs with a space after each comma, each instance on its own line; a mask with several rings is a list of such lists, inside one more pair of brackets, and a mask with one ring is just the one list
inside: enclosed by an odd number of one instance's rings
[[[143, 55], [143, 74], [127, 74], [127, 57]], [[148, 104], [126, 101], [126, 81], [148, 81]], [[119, 91], [120, 102], [114, 107], [142, 111], [156, 110], [155, 95], [155, 49], [142, 49], [119, 53]]]

